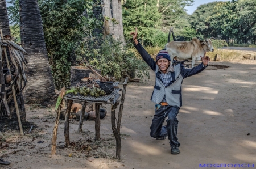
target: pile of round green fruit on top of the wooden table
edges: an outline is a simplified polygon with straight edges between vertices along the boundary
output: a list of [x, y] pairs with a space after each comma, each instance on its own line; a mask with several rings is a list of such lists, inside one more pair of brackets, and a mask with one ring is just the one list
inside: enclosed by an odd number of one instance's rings
[[74, 95], [77, 95], [77, 93], [84, 95], [84, 96], [95, 96], [98, 97], [100, 95], [105, 96], [106, 92], [104, 90], [101, 90], [100, 88], [90, 88], [86, 86], [80, 86], [80, 87], [71, 87], [71, 90], [69, 92], [73, 92]]

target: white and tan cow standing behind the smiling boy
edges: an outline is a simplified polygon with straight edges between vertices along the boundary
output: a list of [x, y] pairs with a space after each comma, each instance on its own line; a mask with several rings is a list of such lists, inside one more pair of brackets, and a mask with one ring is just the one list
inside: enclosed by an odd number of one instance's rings
[[178, 60], [192, 60], [192, 67], [195, 61], [201, 60], [205, 52], [213, 52], [212, 41], [210, 39], [199, 40], [193, 38], [191, 41], [171, 41], [166, 44], [165, 49], [171, 57], [171, 63], [174, 58]]

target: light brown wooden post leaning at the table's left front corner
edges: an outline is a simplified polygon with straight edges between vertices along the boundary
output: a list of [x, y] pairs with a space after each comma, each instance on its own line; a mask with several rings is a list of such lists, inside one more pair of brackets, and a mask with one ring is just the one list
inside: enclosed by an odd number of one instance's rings
[[[65, 87], [61, 88], [60, 94], [59, 96], [61, 97], [61, 102], [65, 96], [66, 90]], [[56, 111], [56, 118], [55, 118], [55, 125], [53, 128], [53, 133], [52, 133], [52, 155], [56, 154], [56, 142], [57, 142], [57, 130], [58, 130], [58, 126], [59, 126], [59, 121], [60, 121], [60, 111], [62, 108], [63, 104], [60, 104], [57, 111]]]

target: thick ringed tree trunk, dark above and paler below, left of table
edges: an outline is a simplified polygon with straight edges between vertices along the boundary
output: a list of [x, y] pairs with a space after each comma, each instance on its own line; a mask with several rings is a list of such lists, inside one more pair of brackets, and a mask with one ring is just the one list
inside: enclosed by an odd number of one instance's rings
[[47, 105], [53, 102], [55, 87], [44, 41], [38, 1], [19, 0], [19, 7], [20, 37], [22, 47], [28, 53], [26, 57], [28, 61], [26, 103]]

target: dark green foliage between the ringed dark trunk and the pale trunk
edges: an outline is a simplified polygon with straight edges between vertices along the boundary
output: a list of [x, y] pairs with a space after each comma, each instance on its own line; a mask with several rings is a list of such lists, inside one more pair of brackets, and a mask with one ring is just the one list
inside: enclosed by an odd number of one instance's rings
[[69, 86], [74, 50], [85, 35], [86, 1], [42, 1], [40, 11], [44, 38], [56, 88]]

